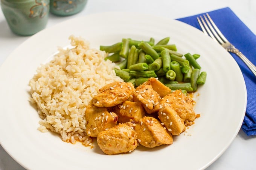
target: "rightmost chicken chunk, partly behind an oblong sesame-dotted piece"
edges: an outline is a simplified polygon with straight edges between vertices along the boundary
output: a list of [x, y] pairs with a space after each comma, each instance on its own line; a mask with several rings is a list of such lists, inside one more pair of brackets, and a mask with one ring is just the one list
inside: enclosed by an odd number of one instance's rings
[[193, 100], [184, 95], [181, 90], [175, 90], [160, 100], [161, 107], [169, 104], [184, 121], [194, 121], [196, 114], [193, 108]]

